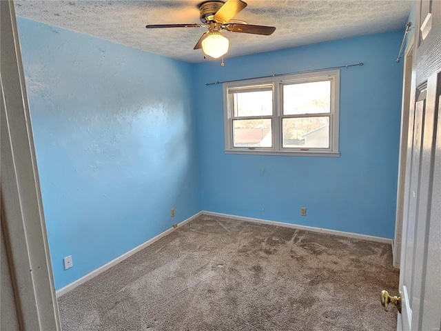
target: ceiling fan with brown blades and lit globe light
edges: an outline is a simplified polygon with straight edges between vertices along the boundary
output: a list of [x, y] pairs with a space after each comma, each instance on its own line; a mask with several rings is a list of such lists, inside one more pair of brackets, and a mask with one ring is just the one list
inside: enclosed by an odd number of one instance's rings
[[253, 26], [251, 24], [234, 23], [230, 21], [247, 3], [241, 0], [205, 1], [199, 6], [199, 19], [203, 24], [151, 24], [147, 29], [157, 28], [201, 28], [207, 26], [208, 31], [194, 46], [194, 50], [202, 48], [204, 54], [218, 59], [228, 52], [229, 40], [221, 33], [223, 30], [269, 36], [276, 28], [274, 26]]

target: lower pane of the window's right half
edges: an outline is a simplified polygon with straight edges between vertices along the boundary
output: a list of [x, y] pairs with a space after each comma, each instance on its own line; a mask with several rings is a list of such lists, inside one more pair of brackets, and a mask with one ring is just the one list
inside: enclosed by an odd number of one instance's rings
[[283, 119], [283, 147], [329, 148], [329, 117]]

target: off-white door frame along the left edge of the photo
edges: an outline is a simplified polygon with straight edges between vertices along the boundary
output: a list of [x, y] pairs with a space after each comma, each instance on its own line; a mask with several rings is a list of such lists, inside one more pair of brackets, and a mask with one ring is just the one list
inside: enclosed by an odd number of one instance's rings
[[6, 292], [18, 319], [0, 325], [61, 330], [13, 1], [0, 1], [0, 14], [1, 230], [8, 257], [1, 266], [10, 270]]

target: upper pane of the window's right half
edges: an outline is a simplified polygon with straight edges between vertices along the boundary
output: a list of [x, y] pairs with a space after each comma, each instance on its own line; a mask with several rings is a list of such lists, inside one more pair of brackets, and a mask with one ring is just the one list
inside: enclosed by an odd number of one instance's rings
[[330, 112], [331, 81], [283, 86], [283, 114], [318, 114]]

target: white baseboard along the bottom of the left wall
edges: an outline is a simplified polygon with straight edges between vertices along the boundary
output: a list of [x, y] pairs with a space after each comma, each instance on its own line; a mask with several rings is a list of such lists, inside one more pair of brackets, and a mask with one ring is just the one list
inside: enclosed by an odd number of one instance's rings
[[194, 214], [192, 217], [189, 217], [188, 219], [185, 219], [181, 223], [178, 223], [178, 226], [176, 228], [171, 228], [171, 229], [165, 230], [164, 232], [158, 234], [156, 237], [153, 237], [152, 239], [145, 241], [145, 243], [141, 243], [141, 245], [122, 254], [121, 256], [117, 257], [116, 259], [113, 259], [112, 261], [105, 263], [105, 265], [101, 265], [101, 267], [95, 269], [92, 272], [89, 272], [88, 274], [81, 277], [80, 279], [77, 279], [76, 281], [70, 283], [69, 285], [65, 285], [64, 288], [60, 288], [59, 290], [57, 290], [57, 292], [56, 292], [57, 298], [61, 297], [65, 293], [73, 290], [74, 288], [81, 285], [82, 283], [85, 283], [86, 281], [98, 276], [99, 274], [101, 274], [101, 272], [105, 272], [105, 270], [112, 268], [114, 265], [120, 263], [121, 261], [124, 261], [125, 259], [127, 259], [127, 257], [131, 257], [136, 252], [143, 250], [144, 248], [146, 248], [149, 245], [152, 245], [152, 243], [154, 243], [155, 241], [158, 241], [159, 239], [165, 237], [167, 234], [172, 233], [174, 230], [181, 228], [181, 226], [183, 226], [185, 223], [188, 223], [189, 221], [192, 221], [193, 219], [196, 219], [196, 217], [199, 217], [201, 215], [202, 215], [202, 212], [198, 212], [198, 213]]

